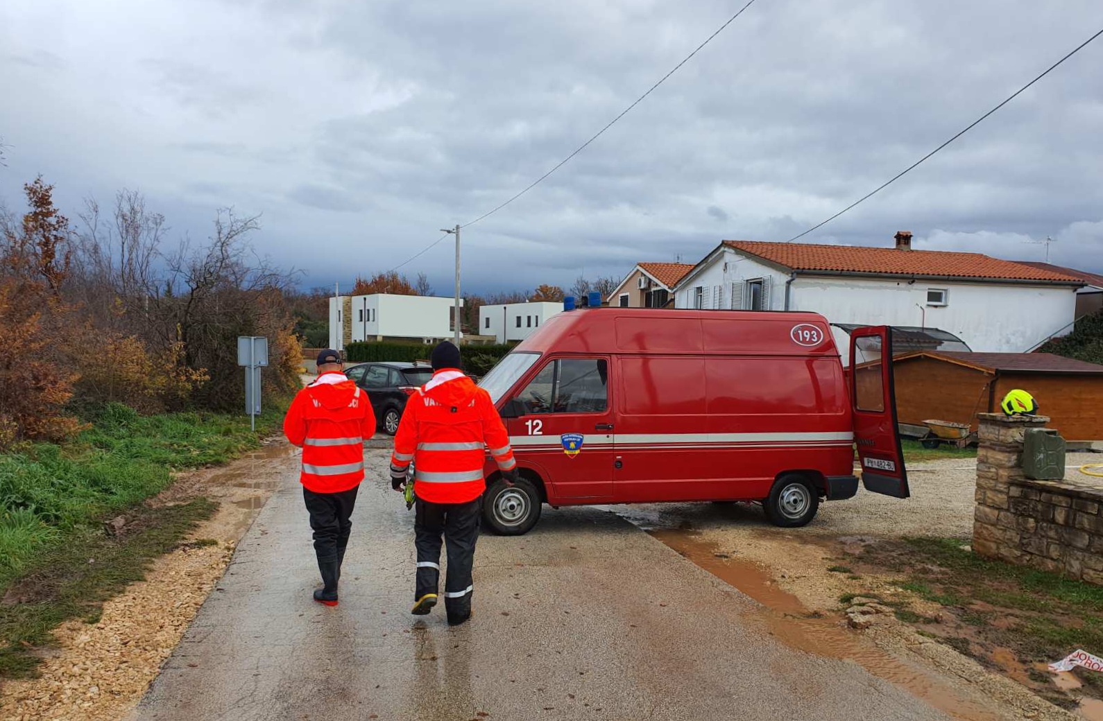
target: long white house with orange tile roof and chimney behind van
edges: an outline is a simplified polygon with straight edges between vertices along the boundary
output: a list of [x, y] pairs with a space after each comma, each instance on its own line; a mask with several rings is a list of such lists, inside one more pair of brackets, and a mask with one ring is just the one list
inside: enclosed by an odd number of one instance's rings
[[941, 329], [982, 353], [1068, 332], [1083, 281], [973, 252], [725, 240], [674, 288], [675, 308], [792, 310], [831, 323]]

